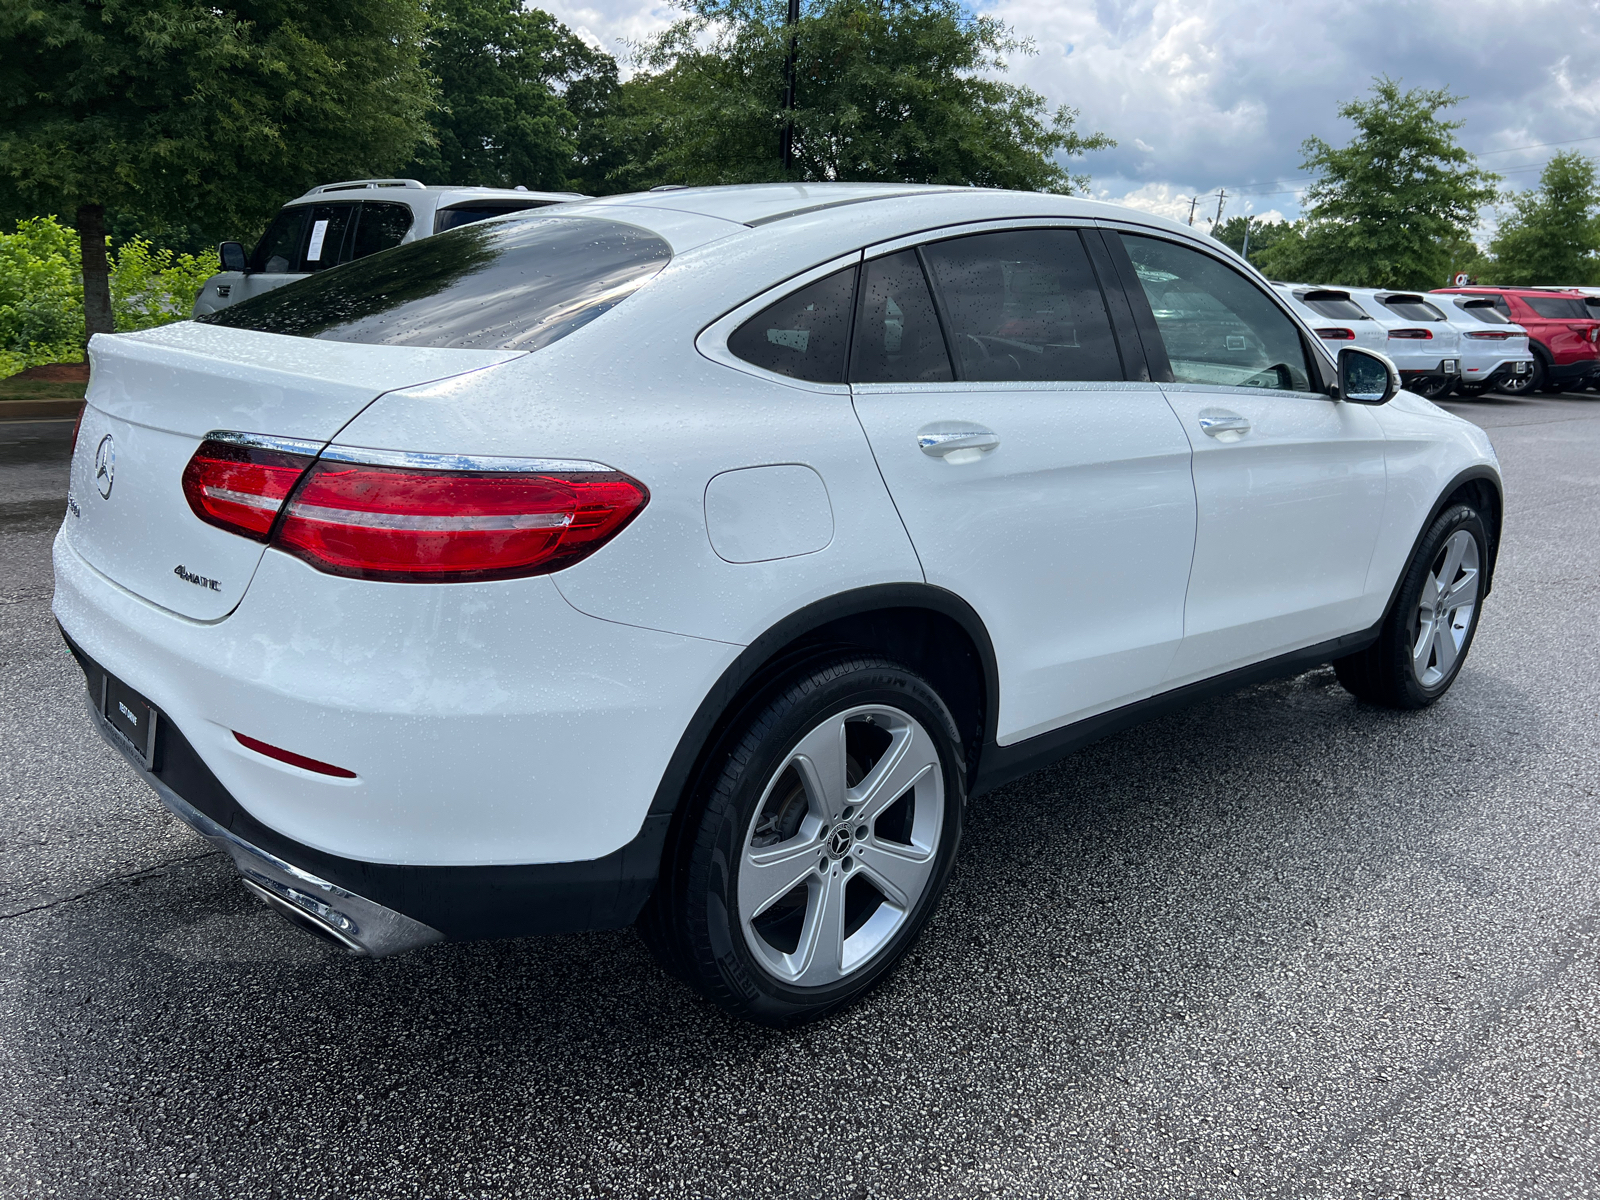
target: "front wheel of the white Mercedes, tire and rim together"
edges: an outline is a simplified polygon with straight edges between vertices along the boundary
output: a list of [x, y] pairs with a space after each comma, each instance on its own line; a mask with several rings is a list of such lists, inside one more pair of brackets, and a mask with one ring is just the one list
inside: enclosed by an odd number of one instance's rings
[[[1488, 544], [1483, 517], [1469, 504], [1453, 504], [1434, 520], [1406, 565], [1378, 642], [1334, 659], [1346, 691], [1387, 709], [1426, 709], [1450, 691], [1483, 611]], [[1440, 579], [1445, 605], [1438, 603]]]

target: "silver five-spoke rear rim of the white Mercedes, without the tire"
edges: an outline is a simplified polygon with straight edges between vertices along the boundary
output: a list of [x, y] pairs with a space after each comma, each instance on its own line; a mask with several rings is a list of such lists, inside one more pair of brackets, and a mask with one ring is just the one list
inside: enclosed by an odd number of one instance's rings
[[826, 987], [880, 955], [934, 875], [944, 770], [906, 712], [862, 706], [806, 733], [744, 835], [739, 925], [755, 960]]

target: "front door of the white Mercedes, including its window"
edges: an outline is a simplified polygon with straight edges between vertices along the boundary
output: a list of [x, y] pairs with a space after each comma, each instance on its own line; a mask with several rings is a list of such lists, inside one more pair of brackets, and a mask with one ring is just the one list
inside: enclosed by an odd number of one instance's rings
[[1163, 389], [1194, 448], [1194, 571], [1168, 683], [1357, 630], [1384, 512], [1378, 419], [1320, 390], [1299, 328], [1235, 267], [1115, 237], [1168, 358], [1152, 373], [1170, 365]]

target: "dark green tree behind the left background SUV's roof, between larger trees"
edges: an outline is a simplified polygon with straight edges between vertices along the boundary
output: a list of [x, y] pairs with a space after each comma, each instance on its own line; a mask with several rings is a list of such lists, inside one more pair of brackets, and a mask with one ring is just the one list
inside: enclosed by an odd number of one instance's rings
[[618, 86], [610, 54], [520, 0], [435, 0], [424, 66], [434, 138], [405, 173], [430, 184], [573, 186]]

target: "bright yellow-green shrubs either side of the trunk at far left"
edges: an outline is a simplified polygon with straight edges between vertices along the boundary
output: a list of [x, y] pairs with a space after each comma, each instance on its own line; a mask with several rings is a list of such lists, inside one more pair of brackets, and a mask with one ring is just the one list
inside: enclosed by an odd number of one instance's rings
[[[144, 238], [110, 256], [110, 307], [118, 330], [186, 320], [216, 267], [210, 254], [174, 254]], [[83, 357], [83, 277], [77, 230], [50, 216], [0, 234], [0, 378], [37, 363]]]

